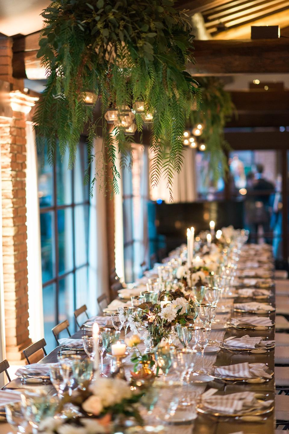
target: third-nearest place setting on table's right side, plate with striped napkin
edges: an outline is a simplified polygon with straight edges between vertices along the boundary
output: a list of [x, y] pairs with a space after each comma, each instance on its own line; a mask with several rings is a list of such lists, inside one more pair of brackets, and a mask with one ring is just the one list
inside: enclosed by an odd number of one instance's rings
[[220, 344], [221, 348], [234, 351], [250, 351], [254, 353], [262, 353], [269, 351], [275, 347], [275, 341], [264, 339], [262, 336], [250, 337], [244, 335], [241, 338], [230, 336]]

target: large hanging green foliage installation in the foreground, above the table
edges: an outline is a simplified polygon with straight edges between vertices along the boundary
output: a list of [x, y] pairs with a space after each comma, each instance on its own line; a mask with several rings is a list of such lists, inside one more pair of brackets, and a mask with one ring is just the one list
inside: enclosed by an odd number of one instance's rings
[[[88, 168], [100, 162], [96, 178], [106, 185], [112, 171], [112, 189], [118, 192], [118, 152], [121, 166], [131, 166], [131, 141], [122, 128], [109, 128], [104, 115], [109, 108], [132, 107], [144, 102], [152, 114], [151, 183], [162, 176], [171, 188], [175, 172], [182, 168], [183, 131], [194, 99], [197, 82], [186, 72], [194, 62], [193, 36], [186, 11], [173, 7], [175, 0], [58, 0], [44, 10], [45, 26], [38, 57], [47, 71], [47, 85], [34, 122], [38, 145], [47, 146], [48, 161], [55, 163], [59, 146], [63, 157], [69, 150], [72, 168], [79, 136], [88, 131]], [[83, 102], [82, 92], [94, 92], [101, 103], [101, 117]], [[135, 114], [139, 132], [141, 115]], [[93, 154], [93, 138], [101, 127], [103, 150]], [[104, 184], [103, 184], [104, 183]]]

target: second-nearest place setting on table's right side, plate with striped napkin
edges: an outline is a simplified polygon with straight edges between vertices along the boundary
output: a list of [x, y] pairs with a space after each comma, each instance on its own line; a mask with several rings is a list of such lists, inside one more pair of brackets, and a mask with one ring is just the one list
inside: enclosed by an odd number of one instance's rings
[[243, 381], [261, 383], [273, 378], [271, 371], [264, 363], [237, 363], [228, 366], [213, 366], [210, 376], [223, 381]]

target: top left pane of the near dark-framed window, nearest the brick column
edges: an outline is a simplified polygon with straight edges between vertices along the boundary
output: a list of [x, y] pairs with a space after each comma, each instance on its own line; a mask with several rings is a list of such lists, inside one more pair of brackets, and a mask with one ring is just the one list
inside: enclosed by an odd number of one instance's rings
[[38, 155], [38, 197], [40, 208], [53, 205], [53, 167], [48, 164], [46, 153], [44, 164]]

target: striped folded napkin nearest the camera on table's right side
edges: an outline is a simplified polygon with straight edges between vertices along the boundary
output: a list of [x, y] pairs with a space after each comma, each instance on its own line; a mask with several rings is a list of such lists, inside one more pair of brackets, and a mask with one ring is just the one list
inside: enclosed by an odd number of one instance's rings
[[212, 395], [209, 397], [204, 397], [203, 394], [202, 402], [213, 411], [234, 414], [243, 411], [244, 413], [250, 413], [257, 409], [268, 408], [272, 405], [273, 400], [257, 401], [254, 392], [237, 392], [229, 395]]

